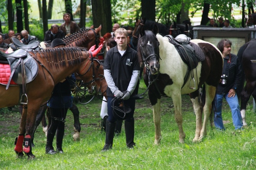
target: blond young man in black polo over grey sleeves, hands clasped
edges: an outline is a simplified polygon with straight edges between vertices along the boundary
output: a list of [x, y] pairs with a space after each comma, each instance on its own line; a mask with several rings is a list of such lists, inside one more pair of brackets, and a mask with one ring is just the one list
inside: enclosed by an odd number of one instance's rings
[[127, 45], [129, 39], [126, 29], [115, 30], [117, 46], [107, 51], [104, 60], [104, 75], [107, 81], [107, 109], [108, 119], [106, 122], [106, 138], [102, 151], [112, 148], [115, 124], [117, 119], [113, 116], [112, 99], [123, 99], [125, 106], [131, 108], [131, 112], [125, 116], [126, 146], [133, 148], [134, 143], [134, 110], [135, 99], [130, 98], [139, 79], [139, 60], [135, 50]]

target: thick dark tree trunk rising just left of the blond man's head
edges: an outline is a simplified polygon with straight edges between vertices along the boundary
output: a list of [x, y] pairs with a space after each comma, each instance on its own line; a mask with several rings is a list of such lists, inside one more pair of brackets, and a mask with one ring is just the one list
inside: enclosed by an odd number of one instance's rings
[[111, 3], [110, 0], [93, 0], [92, 3], [92, 21], [94, 28], [102, 25], [101, 34], [112, 31]]

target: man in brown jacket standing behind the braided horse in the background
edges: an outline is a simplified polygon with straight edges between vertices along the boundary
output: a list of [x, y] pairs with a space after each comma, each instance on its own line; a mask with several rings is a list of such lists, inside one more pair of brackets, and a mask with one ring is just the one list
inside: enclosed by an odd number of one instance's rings
[[64, 32], [64, 34], [73, 34], [80, 30], [78, 24], [75, 21], [71, 21], [71, 15], [69, 13], [65, 13], [63, 15], [64, 22], [60, 25], [60, 30]]

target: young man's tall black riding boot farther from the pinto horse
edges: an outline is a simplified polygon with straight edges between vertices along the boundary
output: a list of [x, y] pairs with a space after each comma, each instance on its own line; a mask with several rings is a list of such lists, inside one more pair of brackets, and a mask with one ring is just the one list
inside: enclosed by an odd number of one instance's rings
[[109, 120], [107, 120], [105, 145], [101, 151], [107, 151], [112, 148], [114, 131], [115, 131], [115, 122], [109, 122]]

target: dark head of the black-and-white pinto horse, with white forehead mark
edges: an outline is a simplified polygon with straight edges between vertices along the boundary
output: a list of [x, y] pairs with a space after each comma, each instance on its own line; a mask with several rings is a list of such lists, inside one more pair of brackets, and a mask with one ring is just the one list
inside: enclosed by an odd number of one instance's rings
[[144, 26], [139, 28], [138, 55], [153, 75], [159, 73], [160, 70], [157, 33], [158, 27], [156, 24], [152, 31], [144, 30]]

